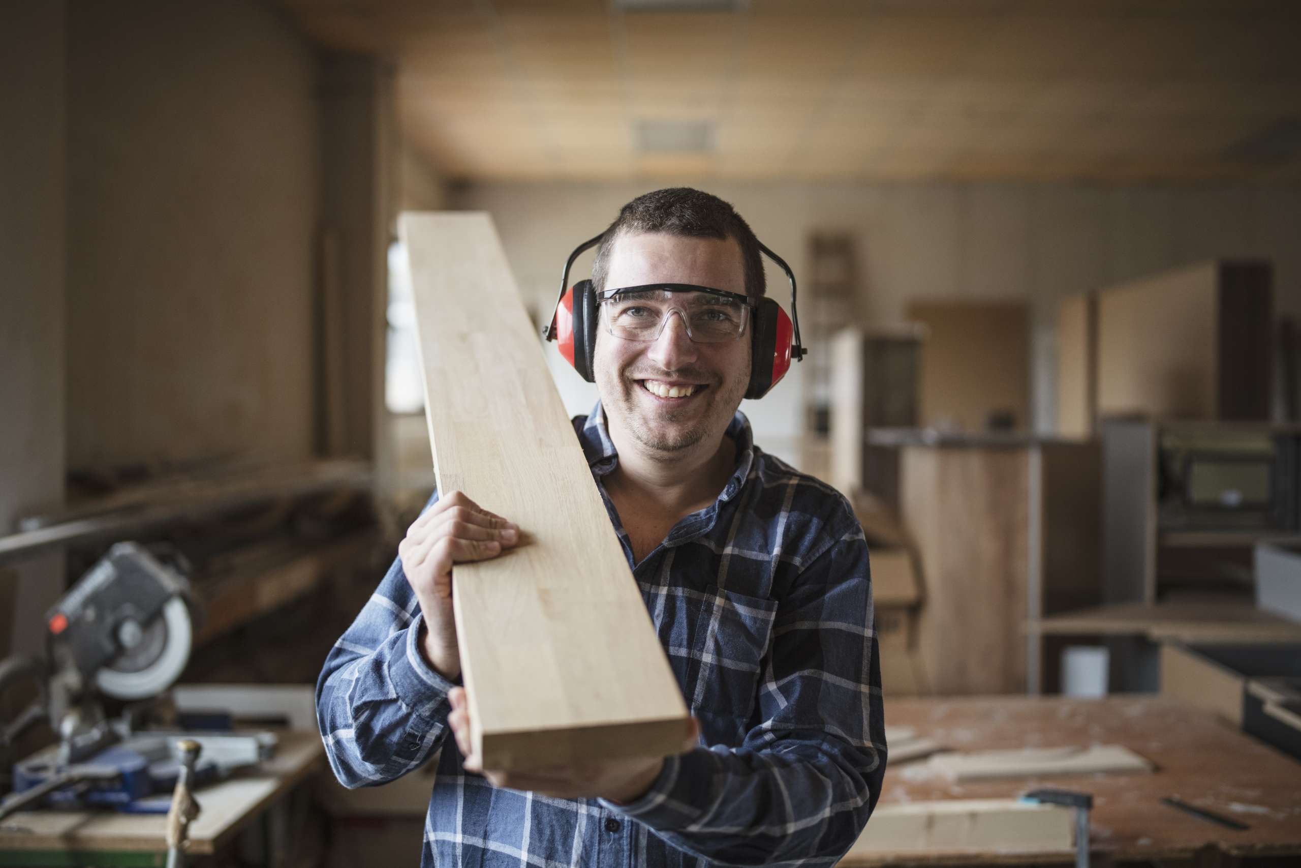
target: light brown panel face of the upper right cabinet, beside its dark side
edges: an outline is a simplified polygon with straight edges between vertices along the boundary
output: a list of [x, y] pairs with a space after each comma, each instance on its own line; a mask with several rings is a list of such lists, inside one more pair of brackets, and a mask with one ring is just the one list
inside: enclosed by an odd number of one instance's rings
[[1202, 263], [1098, 294], [1098, 413], [1214, 419], [1219, 268]]

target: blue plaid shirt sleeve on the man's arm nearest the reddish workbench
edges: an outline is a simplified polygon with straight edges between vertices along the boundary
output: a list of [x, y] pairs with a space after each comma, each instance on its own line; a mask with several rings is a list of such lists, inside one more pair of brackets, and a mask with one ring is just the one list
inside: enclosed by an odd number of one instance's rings
[[606, 807], [718, 864], [830, 865], [850, 850], [886, 739], [866, 541], [856, 521], [833, 539], [778, 605], [761, 722], [742, 746], [669, 757], [644, 796]]

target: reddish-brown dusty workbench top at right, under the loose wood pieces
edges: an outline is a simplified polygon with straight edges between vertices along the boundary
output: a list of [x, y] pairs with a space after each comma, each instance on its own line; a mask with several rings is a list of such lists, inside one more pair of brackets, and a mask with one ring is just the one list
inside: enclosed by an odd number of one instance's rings
[[[1088, 774], [955, 785], [928, 774], [926, 760], [891, 763], [881, 804], [1015, 798], [1053, 786], [1092, 793], [1095, 860], [1155, 861], [1297, 856], [1301, 864], [1301, 763], [1209, 712], [1151, 695], [1106, 699], [961, 698], [886, 700], [891, 727], [915, 730], [946, 748], [1123, 744], [1155, 764], [1151, 774]], [[1166, 796], [1245, 822], [1237, 832], [1162, 804]], [[869, 821], [870, 825], [870, 821]], [[1072, 864], [1073, 855], [999, 850], [961, 854], [847, 856], [843, 868], [943, 864]], [[1108, 863], [1110, 864], [1110, 863]], [[1280, 861], [1278, 864], [1291, 864]]]

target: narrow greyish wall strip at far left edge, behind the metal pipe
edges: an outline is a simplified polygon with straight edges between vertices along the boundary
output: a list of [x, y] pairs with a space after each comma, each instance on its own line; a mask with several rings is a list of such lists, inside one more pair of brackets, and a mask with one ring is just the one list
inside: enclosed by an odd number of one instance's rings
[[[0, 4], [0, 532], [64, 498], [64, 4]], [[62, 554], [0, 566], [0, 657], [43, 647]]]

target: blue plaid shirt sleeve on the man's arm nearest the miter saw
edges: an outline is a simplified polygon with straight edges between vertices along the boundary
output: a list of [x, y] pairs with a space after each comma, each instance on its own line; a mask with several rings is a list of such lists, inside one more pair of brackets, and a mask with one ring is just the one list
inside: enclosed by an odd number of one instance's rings
[[[425, 504], [438, 500], [435, 493]], [[349, 789], [423, 765], [448, 737], [455, 685], [425, 661], [419, 603], [396, 558], [316, 681], [316, 722], [330, 769]]]

